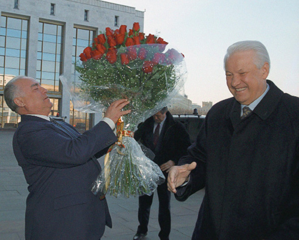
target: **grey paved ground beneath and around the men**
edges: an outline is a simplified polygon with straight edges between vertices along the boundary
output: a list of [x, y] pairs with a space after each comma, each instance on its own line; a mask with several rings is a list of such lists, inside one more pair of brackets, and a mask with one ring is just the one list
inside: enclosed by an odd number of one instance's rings
[[[24, 240], [27, 183], [12, 151], [14, 131], [0, 129], [0, 240]], [[171, 196], [170, 240], [191, 239], [204, 191], [185, 202]], [[107, 196], [113, 228], [106, 228], [102, 240], [132, 240], [138, 227], [138, 198]], [[158, 199], [154, 193], [149, 232], [145, 240], [158, 240]]]

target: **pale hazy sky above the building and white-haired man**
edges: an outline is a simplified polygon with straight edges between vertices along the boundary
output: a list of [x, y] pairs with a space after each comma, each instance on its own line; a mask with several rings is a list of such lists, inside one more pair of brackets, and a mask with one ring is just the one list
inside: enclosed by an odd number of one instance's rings
[[266, 46], [268, 79], [299, 97], [299, 0], [105, 1], [145, 11], [146, 35], [157, 34], [184, 54], [184, 91], [192, 103], [215, 104], [232, 96], [223, 58], [228, 46], [243, 40]]

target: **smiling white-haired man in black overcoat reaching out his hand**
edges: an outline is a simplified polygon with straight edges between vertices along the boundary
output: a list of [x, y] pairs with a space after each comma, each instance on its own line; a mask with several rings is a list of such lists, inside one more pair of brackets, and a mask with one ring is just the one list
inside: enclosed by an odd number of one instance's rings
[[267, 80], [261, 42], [231, 45], [224, 67], [234, 97], [209, 111], [168, 188], [183, 201], [205, 187], [192, 240], [298, 240], [299, 98]]

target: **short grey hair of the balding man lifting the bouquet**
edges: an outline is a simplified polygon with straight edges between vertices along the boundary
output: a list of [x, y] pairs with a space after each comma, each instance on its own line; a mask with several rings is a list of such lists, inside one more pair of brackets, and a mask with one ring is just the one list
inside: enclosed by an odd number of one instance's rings
[[22, 91], [14, 84], [17, 80], [29, 78], [26, 76], [16, 76], [11, 79], [4, 87], [4, 100], [8, 108], [17, 113], [18, 106], [14, 103], [14, 99], [22, 96]]

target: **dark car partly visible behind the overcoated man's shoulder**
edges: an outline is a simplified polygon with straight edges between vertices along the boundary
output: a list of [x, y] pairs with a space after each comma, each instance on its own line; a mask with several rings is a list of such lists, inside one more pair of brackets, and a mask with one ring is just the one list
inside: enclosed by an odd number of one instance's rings
[[204, 115], [172, 115], [175, 120], [180, 121], [184, 124], [187, 132], [189, 133], [190, 140], [193, 143], [196, 139], [199, 128], [201, 127], [205, 116]]

